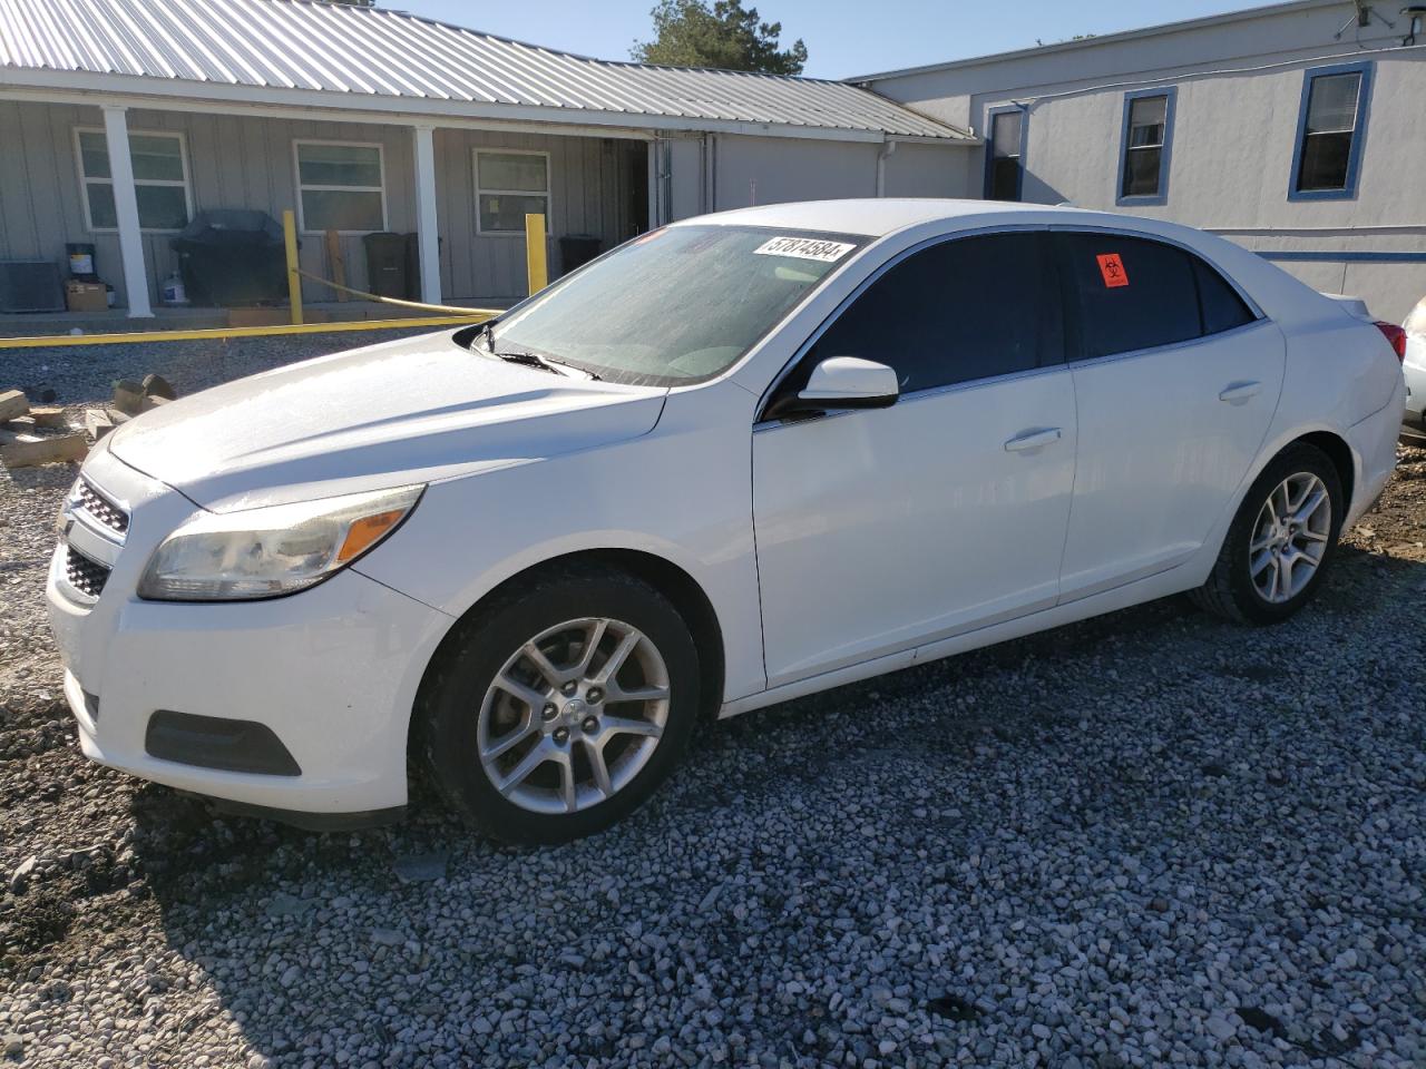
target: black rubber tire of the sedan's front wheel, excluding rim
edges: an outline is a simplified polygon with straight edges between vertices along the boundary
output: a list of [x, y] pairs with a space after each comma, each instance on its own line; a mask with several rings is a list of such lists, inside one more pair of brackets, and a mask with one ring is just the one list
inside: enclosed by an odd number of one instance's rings
[[[478, 733], [482, 703], [496, 673], [526, 641], [586, 617], [623, 621], [653, 644], [667, 670], [663, 733], [642, 767], [612, 795], [575, 812], [536, 812], [503, 797], [482, 764]], [[456, 624], [442, 643], [416, 700], [418, 755], [446, 802], [482, 834], [515, 844], [568, 842], [626, 817], [669, 777], [697, 720], [699, 680], [693, 636], [656, 589], [599, 566], [552, 570], [498, 596]], [[532, 708], [532, 718], [539, 723], [538, 710]], [[540, 730], [532, 738], [539, 740]], [[568, 738], [565, 745], [572, 751], [583, 743], [578, 728]], [[546, 771], [550, 764], [546, 763]]]

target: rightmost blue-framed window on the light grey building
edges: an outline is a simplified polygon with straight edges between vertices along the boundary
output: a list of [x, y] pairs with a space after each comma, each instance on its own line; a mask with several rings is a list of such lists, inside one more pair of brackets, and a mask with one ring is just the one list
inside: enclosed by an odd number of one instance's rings
[[1309, 70], [1303, 76], [1298, 150], [1292, 167], [1293, 200], [1356, 195], [1370, 83], [1369, 64]]

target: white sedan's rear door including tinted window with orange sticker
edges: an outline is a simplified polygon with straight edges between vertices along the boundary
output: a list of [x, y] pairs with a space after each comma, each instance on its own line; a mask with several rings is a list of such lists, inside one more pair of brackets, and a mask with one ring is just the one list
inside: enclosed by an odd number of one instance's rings
[[1061, 572], [1072, 600], [1204, 544], [1268, 433], [1285, 345], [1188, 249], [1112, 231], [1057, 237], [1079, 415]]

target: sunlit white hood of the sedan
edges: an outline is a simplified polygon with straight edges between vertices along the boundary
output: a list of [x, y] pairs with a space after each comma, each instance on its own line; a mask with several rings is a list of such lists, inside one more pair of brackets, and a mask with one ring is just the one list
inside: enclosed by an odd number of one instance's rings
[[453, 332], [288, 365], [108, 436], [124, 463], [217, 512], [468, 475], [637, 438], [665, 388], [471, 352]]

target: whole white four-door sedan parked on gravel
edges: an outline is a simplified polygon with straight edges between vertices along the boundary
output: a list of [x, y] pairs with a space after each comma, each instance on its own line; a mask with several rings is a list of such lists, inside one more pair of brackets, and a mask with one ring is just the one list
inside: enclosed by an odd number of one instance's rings
[[386, 820], [415, 757], [568, 840], [699, 717], [1179, 592], [1286, 619], [1403, 392], [1370, 321], [1168, 222], [689, 220], [110, 435], [48, 580], [66, 694], [91, 758], [242, 810]]

